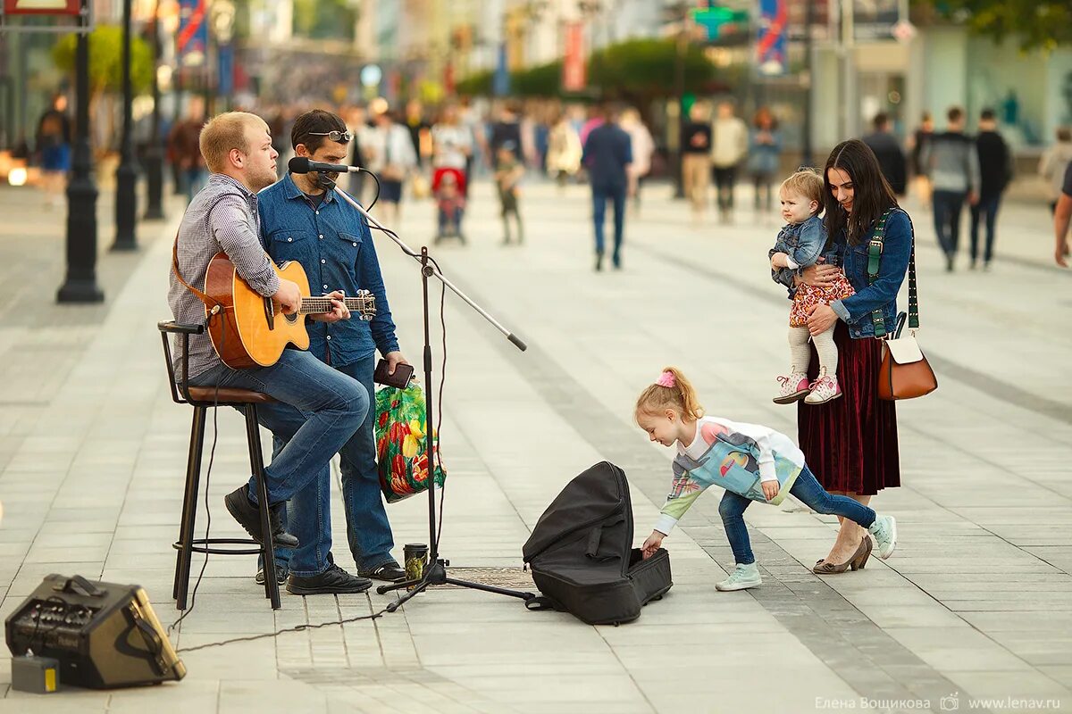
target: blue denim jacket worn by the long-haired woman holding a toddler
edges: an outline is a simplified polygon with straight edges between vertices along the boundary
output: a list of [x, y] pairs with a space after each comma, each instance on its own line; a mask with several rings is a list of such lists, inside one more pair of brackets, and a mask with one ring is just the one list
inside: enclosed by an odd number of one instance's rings
[[872, 310], [882, 308], [882, 319], [887, 330], [893, 326], [897, 316], [897, 292], [908, 272], [908, 258], [912, 252], [912, 219], [902, 209], [894, 209], [885, 222], [882, 239], [882, 257], [878, 265], [878, 279], [867, 284], [867, 238], [858, 245], [849, 245], [845, 232], [834, 242], [834, 248], [842, 255], [845, 276], [857, 291], [844, 300], [830, 304], [837, 317], [849, 325], [849, 336], [853, 339], [875, 336]]

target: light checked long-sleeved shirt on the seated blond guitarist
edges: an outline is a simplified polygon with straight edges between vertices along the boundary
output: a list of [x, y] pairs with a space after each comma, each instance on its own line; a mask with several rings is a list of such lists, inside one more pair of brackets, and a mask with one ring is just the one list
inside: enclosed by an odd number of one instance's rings
[[[279, 275], [260, 244], [257, 197], [239, 181], [213, 173], [208, 185], [194, 196], [179, 226], [179, 271], [182, 279], [204, 289], [209, 260], [220, 250], [227, 254], [238, 274], [250, 287], [268, 297], [279, 290]], [[167, 303], [176, 322], [205, 322], [205, 304], [170, 272]], [[174, 364], [182, 374], [182, 347], [176, 336]], [[190, 377], [220, 364], [207, 333], [190, 335]]]

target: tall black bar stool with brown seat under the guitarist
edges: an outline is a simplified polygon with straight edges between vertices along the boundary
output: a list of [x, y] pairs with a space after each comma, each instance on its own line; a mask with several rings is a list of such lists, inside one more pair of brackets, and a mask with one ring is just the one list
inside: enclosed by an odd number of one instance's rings
[[[273, 549], [271, 525], [268, 520], [268, 488], [265, 485], [265, 465], [260, 452], [260, 429], [257, 425], [257, 405], [274, 401], [267, 394], [250, 390], [235, 390], [215, 386], [190, 386], [188, 365], [190, 363], [190, 335], [205, 332], [203, 324], [179, 324], [175, 321], [160, 322], [161, 339], [164, 343], [164, 360], [167, 363], [167, 382], [172, 388], [175, 404], [188, 404], [194, 408], [193, 426], [190, 431], [190, 456], [187, 458], [187, 485], [182, 497], [182, 520], [179, 522], [179, 540], [172, 544], [178, 550], [175, 562], [175, 588], [172, 597], [175, 607], [187, 609], [187, 591], [190, 587], [190, 561], [194, 552], [218, 556], [264, 556], [265, 597], [271, 601], [273, 610], [280, 607], [279, 583], [276, 580], [276, 551]], [[172, 346], [168, 335], [179, 335], [182, 343], [182, 379], [176, 382], [172, 364]], [[250, 450], [250, 468], [257, 485], [257, 502], [260, 505], [260, 543], [253, 538], [195, 538], [194, 522], [197, 517], [197, 490], [200, 485], [202, 450], [205, 445], [205, 416], [212, 407], [235, 407], [245, 414], [245, 437]], [[230, 547], [215, 547], [230, 546]], [[245, 546], [245, 547], [238, 547]], [[249, 547], [253, 546], [253, 547]]]

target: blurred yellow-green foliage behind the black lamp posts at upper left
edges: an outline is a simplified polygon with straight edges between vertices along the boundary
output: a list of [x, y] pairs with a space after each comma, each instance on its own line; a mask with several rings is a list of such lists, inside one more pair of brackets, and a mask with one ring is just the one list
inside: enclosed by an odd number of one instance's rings
[[[53, 61], [64, 72], [74, 72], [75, 34], [63, 36], [53, 47]], [[149, 43], [138, 36], [131, 37], [131, 86], [135, 94], [152, 87], [153, 59]], [[89, 34], [90, 92], [120, 92], [123, 87], [123, 30], [102, 25]]]

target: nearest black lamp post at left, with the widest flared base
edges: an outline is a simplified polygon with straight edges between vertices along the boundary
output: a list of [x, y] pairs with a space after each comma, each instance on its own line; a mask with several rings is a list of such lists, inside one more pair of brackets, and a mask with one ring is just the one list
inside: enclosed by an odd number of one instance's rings
[[81, 3], [81, 27], [75, 49], [75, 108], [78, 125], [71, 182], [68, 183], [66, 279], [56, 293], [60, 303], [99, 303], [96, 285], [96, 186], [89, 150], [89, 5]]

